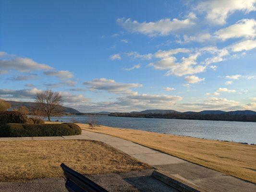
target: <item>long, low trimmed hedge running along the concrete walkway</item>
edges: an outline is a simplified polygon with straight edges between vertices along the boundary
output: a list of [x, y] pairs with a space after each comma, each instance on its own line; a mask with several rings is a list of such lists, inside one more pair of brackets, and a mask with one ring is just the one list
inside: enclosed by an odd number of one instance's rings
[[19, 124], [0, 126], [0, 137], [67, 136], [81, 134], [81, 128], [74, 123], [61, 124]]

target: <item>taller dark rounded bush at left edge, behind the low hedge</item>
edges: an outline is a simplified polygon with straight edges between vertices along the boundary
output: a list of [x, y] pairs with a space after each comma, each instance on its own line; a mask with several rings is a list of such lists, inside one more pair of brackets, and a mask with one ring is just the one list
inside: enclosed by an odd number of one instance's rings
[[30, 123], [26, 114], [19, 111], [0, 111], [0, 125], [6, 123]]

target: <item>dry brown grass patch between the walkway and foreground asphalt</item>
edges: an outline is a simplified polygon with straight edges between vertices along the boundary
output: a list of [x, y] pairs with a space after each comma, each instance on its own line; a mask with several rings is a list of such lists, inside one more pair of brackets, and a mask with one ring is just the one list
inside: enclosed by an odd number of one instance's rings
[[62, 177], [62, 162], [83, 174], [150, 168], [97, 141], [0, 141], [0, 181]]

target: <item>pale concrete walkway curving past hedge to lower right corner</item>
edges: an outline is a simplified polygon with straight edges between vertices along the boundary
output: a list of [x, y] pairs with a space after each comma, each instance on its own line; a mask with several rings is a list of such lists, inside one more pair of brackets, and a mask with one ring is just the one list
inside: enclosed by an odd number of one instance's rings
[[190, 183], [201, 191], [207, 192], [253, 192], [256, 185], [244, 180], [225, 175], [209, 168], [184, 161], [148, 147], [120, 139], [114, 136], [82, 131], [81, 135], [62, 137], [19, 137], [0, 138], [0, 141], [13, 140], [61, 140], [61, 139], [90, 139], [104, 142], [120, 151], [145, 162], [154, 168], [170, 175], [172, 178]]

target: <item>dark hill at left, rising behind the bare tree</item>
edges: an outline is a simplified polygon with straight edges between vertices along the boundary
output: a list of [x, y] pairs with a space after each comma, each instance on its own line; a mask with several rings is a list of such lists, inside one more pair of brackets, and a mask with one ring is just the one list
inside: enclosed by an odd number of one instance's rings
[[[34, 102], [21, 102], [21, 101], [7, 101], [8, 103], [11, 104], [11, 110], [14, 110], [14, 109], [18, 109], [20, 108], [21, 106], [25, 106], [26, 108], [28, 108], [29, 111], [31, 111], [33, 108], [36, 107], [36, 103]], [[68, 107], [64, 107], [62, 106], [63, 108], [63, 112], [65, 113], [80, 113], [78, 110], [74, 109], [74, 108], [68, 108]]]

